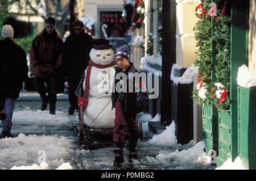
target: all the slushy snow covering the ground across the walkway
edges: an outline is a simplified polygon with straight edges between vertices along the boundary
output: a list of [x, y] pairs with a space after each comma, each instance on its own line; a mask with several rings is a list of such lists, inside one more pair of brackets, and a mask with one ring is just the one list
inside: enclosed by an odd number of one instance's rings
[[[138, 119], [147, 138], [152, 138], [148, 121], [160, 121], [160, 116], [140, 113]], [[47, 111], [14, 112], [12, 131], [18, 137], [0, 140], [0, 169], [114, 169], [113, 147], [80, 148], [70, 129], [77, 120], [77, 114], [68, 116], [61, 111], [56, 115]], [[138, 141], [138, 158], [132, 163], [125, 148], [123, 169], [212, 169], [203, 142], [178, 145], [174, 133], [173, 123], [150, 141]], [[42, 150], [46, 153], [43, 163], [39, 162]]]

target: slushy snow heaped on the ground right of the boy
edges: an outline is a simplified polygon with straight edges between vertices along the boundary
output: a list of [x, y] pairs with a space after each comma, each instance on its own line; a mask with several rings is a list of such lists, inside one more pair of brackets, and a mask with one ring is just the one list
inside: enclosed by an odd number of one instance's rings
[[[141, 118], [150, 119], [147, 114]], [[150, 121], [160, 121], [160, 116], [156, 115]], [[210, 157], [204, 152], [204, 141], [195, 143], [189, 142], [187, 145], [177, 144], [175, 136], [175, 122], [159, 135], [154, 135], [152, 139], [141, 143], [148, 148], [158, 148], [156, 155], [142, 159], [133, 159], [136, 169], [214, 169], [210, 165]]]

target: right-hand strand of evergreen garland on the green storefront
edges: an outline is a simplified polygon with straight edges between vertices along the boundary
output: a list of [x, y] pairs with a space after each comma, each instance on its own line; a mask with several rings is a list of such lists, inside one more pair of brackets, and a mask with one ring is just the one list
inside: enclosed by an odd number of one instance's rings
[[[225, 1], [218, 1], [218, 4], [224, 5]], [[221, 6], [221, 7], [222, 7]], [[227, 9], [230, 11], [230, 7]], [[222, 96], [217, 98], [214, 96], [214, 106], [219, 111], [229, 110], [230, 105], [230, 25], [231, 17], [229, 13], [221, 14], [221, 9], [217, 10], [217, 18], [214, 23], [213, 41], [216, 41], [216, 61], [214, 66], [216, 70], [216, 83], [221, 83]], [[217, 86], [214, 86], [217, 90]], [[225, 92], [224, 92], [225, 91]], [[223, 93], [224, 92], [224, 93]]]

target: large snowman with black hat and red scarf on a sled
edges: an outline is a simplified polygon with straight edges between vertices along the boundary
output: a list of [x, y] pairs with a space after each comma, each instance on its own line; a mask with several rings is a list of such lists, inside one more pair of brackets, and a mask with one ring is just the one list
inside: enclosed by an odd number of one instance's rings
[[[90, 128], [113, 128], [111, 89], [114, 81], [114, 50], [109, 40], [94, 40], [83, 83], [86, 106], [84, 123]], [[97, 118], [96, 118], [97, 117]]]

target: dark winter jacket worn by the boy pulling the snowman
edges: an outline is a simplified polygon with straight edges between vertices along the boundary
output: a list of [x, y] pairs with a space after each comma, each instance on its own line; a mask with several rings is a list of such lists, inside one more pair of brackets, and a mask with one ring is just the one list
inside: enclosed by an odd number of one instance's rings
[[[121, 73], [121, 68], [118, 66], [115, 67], [115, 76], [117, 73]], [[123, 113], [127, 116], [133, 116], [139, 112], [146, 110], [147, 105], [147, 90], [146, 85], [142, 79], [139, 79], [139, 82], [134, 77], [129, 77], [129, 73], [138, 73], [139, 71], [135, 68], [134, 64], [130, 62], [129, 68], [124, 72], [127, 74], [127, 92], [125, 92], [125, 100], [123, 103]], [[129, 92], [129, 79], [133, 79], [133, 92]], [[115, 86], [119, 82], [119, 79], [114, 79]], [[135, 92], [139, 90], [139, 92]], [[115, 107], [115, 102], [118, 99], [118, 92], [113, 90], [112, 93], [112, 108]]]

